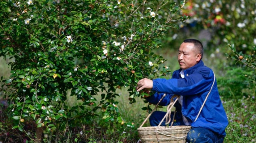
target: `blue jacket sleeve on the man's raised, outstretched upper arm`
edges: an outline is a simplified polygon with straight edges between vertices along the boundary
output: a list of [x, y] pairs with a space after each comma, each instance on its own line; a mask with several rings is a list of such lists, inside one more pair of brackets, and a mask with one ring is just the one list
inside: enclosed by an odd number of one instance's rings
[[154, 79], [152, 90], [158, 93], [189, 96], [210, 90], [213, 81], [214, 74], [212, 71], [200, 71], [179, 79]]

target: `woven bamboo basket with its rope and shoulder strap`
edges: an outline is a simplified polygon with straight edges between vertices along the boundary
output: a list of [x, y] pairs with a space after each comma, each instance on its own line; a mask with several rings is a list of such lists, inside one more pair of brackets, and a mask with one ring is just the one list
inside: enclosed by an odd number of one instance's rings
[[[214, 85], [214, 82], [215, 82], [215, 74], [214, 74], [214, 81], [212, 83], [212, 87]], [[204, 107], [204, 104], [205, 104], [210, 92], [212, 91], [212, 87], [210, 88], [210, 91], [208, 92], [208, 94], [204, 100], [204, 103], [202, 104], [200, 111], [198, 112], [198, 115], [194, 121], [196, 121], [198, 119], [198, 117], [202, 111], [202, 108]], [[162, 96], [162, 98], [159, 100], [158, 104], [162, 101], [164, 96], [166, 96], [166, 94], [164, 94]], [[177, 98], [175, 101], [173, 101], [173, 99], [175, 97], [177, 97]], [[152, 110], [152, 112], [144, 120], [142, 125], [137, 129], [142, 143], [186, 143], [187, 134], [190, 131], [191, 126], [186, 126], [186, 125], [173, 126], [173, 121], [174, 121], [176, 112], [174, 112], [174, 116], [173, 116], [172, 123], [170, 126], [164, 126], [164, 127], [160, 126], [162, 124], [162, 122], [164, 121], [164, 119], [166, 119], [166, 125], [169, 125], [169, 123], [171, 121], [171, 119], [170, 119], [171, 109], [174, 106], [174, 104], [177, 102], [178, 98], [180, 98], [180, 96], [177, 96], [177, 95], [174, 95], [171, 98], [171, 102], [168, 105], [166, 115], [160, 121], [160, 123], [157, 127], [142, 127], [144, 125], [144, 123], [147, 121], [147, 119], [150, 117], [150, 115], [156, 110], [156, 108], [158, 106], [158, 104], [156, 104], [156, 106]]]

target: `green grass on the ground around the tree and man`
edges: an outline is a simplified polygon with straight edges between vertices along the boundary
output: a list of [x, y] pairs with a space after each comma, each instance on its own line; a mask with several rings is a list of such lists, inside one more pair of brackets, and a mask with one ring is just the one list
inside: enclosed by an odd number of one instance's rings
[[[178, 69], [179, 65], [177, 62], [176, 51], [170, 49], [161, 49], [156, 51], [159, 55], [162, 55], [166, 61], [166, 65], [171, 71]], [[214, 56], [212, 55], [214, 54]], [[7, 59], [8, 60], [8, 59]], [[226, 75], [226, 69], [224, 68], [228, 65], [226, 57], [220, 53], [213, 52], [205, 54], [203, 61], [206, 66], [212, 68], [216, 73], [218, 84], [221, 86], [219, 88], [221, 99], [223, 101], [223, 106], [226, 110], [226, 114], [230, 121], [228, 127], [226, 128], [227, 136], [225, 138], [225, 143], [250, 143], [256, 140], [256, 127], [254, 123], [256, 121], [256, 111], [255, 111], [255, 88], [250, 86], [250, 88], [244, 88], [248, 86], [243, 86], [243, 91], [234, 90], [234, 88], [239, 88], [243, 83], [234, 82], [244, 81], [243, 76], [237, 76], [239, 74], [244, 74], [241, 70], [230, 71], [228, 76]], [[6, 65], [6, 61], [0, 57], [0, 75], [4, 78], [10, 76], [10, 70]], [[232, 78], [236, 77], [236, 78]], [[221, 79], [221, 80], [218, 80]], [[229, 83], [233, 84], [227, 84]], [[225, 91], [225, 92], [222, 92]], [[240, 92], [240, 94], [239, 94]], [[246, 94], [242, 94], [246, 92]], [[126, 122], [133, 122], [134, 128], [126, 127], [120, 125], [120, 123], [102, 123], [101, 122], [101, 111], [98, 110], [99, 117], [94, 118], [92, 121], [80, 121], [74, 124], [59, 123], [57, 130], [52, 134], [44, 134], [43, 142], [45, 143], [136, 143], [139, 139], [138, 132], [136, 129], [140, 127], [148, 113], [141, 110], [142, 107], [147, 106], [142, 99], [136, 98], [136, 103], [129, 104], [129, 94], [125, 88], [117, 91], [120, 95], [116, 100], [119, 102], [118, 107], [122, 118]], [[226, 96], [230, 94], [232, 96]], [[0, 99], [1, 99], [0, 94]], [[27, 121], [24, 123], [27, 128], [27, 133], [20, 132], [17, 130], [12, 130], [12, 120], [9, 119], [10, 111], [6, 109], [5, 100], [0, 100], [0, 142], [12, 143], [12, 142], [26, 142], [30, 138], [33, 138], [34, 128], [31, 126], [33, 123]], [[75, 96], [68, 96], [66, 105], [75, 106], [82, 104], [76, 100]], [[153, 105], [151, 105], [154, 108]], [[161, 109], [165, 110], [165, 109]], [[29, 126], [30, 125], [30, 126]], [[112, 126], [113, 130], [108, 131], [109, 127]], [[146, 123], [144, 126], [149, 126]]]

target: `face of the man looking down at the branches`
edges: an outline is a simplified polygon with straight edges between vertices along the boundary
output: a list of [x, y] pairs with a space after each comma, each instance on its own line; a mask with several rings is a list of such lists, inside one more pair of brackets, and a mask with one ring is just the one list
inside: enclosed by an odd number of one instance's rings
[[200, 61], [201, 54], [194, 48], [193, 43], [182, 43], [179, 48], [178, 62], [181, 69], [193, 67]]

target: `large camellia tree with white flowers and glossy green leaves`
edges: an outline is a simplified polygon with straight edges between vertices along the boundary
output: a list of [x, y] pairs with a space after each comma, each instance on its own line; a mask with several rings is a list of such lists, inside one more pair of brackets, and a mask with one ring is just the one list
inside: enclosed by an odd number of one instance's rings
[[[13, 128], [34, 120], [42, 129], [101, 110], [104, 121], [123, 122], [116, 90], [126, 87], [136, 102], [136, 83], [170, 74], [166, 61], [152, 50], [179, 15], [185, 1], [169, 0], [7, 0], [0, 7], [0, 56], [11, 75], [1, 91], [12, 104]], [[67, 90], [83, 102], [65, 104]], [[96, 96], [100, 96], [97, 101]], [[78, 112], [81, 111], [81, 112]], [[124, 123], [124, 122], [123, 122]], [[132, 126], [132, 123], [125, 123]]]

